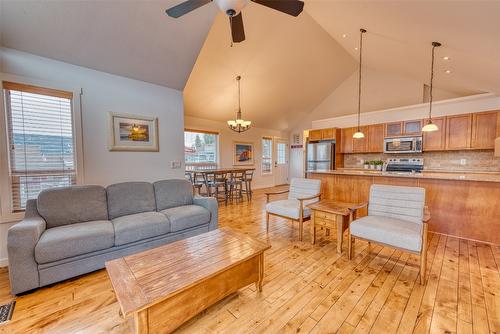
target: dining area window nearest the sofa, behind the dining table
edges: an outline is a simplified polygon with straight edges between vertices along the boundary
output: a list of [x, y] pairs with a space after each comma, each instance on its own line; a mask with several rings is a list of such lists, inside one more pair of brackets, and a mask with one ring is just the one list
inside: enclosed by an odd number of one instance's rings
[[216, 168], [219, 134], [201, 130], [184, 131], [184, 156], [186, 168]]

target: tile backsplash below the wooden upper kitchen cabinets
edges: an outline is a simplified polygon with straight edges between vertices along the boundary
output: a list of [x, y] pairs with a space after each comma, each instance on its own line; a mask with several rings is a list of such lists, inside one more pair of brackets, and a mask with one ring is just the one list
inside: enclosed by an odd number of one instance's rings
[[344, 168], [363, 168], [364, 161], [385, 161], [388, 158], [408, 157], [424, 158], [424, 170], [500, 172], [500, 158], [494, 156], [493, 150], [424, 152], [421, 154], [344, 154]]

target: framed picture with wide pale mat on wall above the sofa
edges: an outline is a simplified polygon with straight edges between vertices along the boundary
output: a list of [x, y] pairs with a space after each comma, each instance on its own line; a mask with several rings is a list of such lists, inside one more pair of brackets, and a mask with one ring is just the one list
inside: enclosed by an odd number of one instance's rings
[[108, 112], [110, 151], [158, 152], [158, 118]]

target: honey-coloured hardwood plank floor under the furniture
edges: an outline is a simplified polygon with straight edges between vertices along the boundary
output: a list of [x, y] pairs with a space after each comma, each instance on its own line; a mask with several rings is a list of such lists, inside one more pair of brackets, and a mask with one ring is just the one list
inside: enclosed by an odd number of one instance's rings
[[[429, 235], [427, 284], [413, 255], [357, 241], [352, 261], [335, 233], [311, 245], [298, 227], [272, 217], [265, 196], [220, 207], [220, 225], [271, 243], [264, 290], [252, 284], [211, 307], [179, 333], [500, 333], [500, 246]], [[9, 294], [0, 269], [0, 303]], [[101, 270], [17, 298], [0, 333], [132, 333]]]

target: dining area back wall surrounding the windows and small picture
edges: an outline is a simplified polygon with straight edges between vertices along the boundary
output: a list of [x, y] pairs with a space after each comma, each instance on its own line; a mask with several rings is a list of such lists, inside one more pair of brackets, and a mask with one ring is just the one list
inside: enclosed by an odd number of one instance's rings
[[245, 141], [252, 142], [255, 150], [255, 173], [252, 188], [265, 188], [274, 186], [274, 175], [262, 175], [261, 157], [262, 157], [262, 143], [261, 139], [264, 136], [288, 138], [288, 133], [261, 129], [250, 128], [250, 130], [243, 133], [236, 133], [227, 127], [224, 122], [210, 121], [196, 117], [185, 117], [185, 127], [188, 129], [197, 130], [210, 130], [219, 132], [219, 162], [221, 167], [233, 166], [233, 142]]

